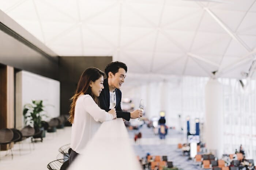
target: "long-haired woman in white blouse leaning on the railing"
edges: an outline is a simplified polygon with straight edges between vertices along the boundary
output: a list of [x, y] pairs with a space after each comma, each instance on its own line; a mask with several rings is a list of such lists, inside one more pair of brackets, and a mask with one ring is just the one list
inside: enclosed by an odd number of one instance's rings
[[96, 133], [101, 122], [116, 118], [115, 109], [106, 112], [99, 108], [98, 96], [104, 88], [103, 75], [104, 73], [98, 68], [87, 68], [80, 77], [75, 95], [71, 98], [69, 111], [69, 122], [72, 123], [70, 164]]

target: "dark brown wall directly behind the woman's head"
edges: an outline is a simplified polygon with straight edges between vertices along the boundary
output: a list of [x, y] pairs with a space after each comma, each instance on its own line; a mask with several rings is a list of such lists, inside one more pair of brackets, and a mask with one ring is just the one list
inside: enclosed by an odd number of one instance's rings
[[74, 95], [78, 80], [88, 67], [96, 67], [104, 71], [105, 66], [112, 61], [112, 57], [60, 57], [60, 104], [61, 114], [68, 114], [70, 98]]

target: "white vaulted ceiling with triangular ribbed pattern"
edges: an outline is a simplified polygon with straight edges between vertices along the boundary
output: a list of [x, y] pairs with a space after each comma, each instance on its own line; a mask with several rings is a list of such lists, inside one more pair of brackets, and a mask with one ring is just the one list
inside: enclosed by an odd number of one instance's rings
[[213, 1], [0, 0], [0, 9], [60, 56], [113, 56], [140, 75], [252, 75], [256, 0]]

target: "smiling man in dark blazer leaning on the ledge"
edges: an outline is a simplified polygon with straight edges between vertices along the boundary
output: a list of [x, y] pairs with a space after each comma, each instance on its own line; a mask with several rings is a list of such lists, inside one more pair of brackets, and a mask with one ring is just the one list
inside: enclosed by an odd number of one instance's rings
[[124, 112], [121, 109], [121, 98], [122, 93], [119, 90], [124, 83], [126, 77], [127, 66], [122, 62], [111, 62], [105, 68], [105, 73], [107, 78], [104, 79], [103, 86], [104, 88], [99, 95], [99, 105], [105, 110], [109, 111], [110, 108], [110, 94], [116, 96], [116, 115], [117, 118], [123, 118], [127, 121], [136, 119], [142, 116], [141, 110], [135, 110], [132, 112]]

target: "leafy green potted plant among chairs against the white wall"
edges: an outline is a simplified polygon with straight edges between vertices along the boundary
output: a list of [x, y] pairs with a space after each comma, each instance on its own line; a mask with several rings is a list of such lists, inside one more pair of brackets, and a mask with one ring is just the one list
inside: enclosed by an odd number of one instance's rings
[[34, 127], [36, 134], [33, 138], [41, 138], [41, 142], [45, 137], [45, 129], [42, 127], [42, 118], [46, 117], [42, 100], [32, 100], [32, 104], [25, 104], [23, 108], [25, 124]]

